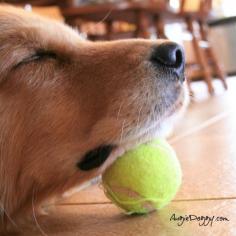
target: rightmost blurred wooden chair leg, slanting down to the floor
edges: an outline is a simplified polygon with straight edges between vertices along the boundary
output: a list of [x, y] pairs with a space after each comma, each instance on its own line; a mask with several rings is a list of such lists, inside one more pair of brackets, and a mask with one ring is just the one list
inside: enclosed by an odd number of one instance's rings
[[[208, 37], [207, 37], [207, 28], [206, 28], [207, 26], [203, 22], [200, 21], [199, 27], [200, 27], [200, 34], [201, 34], [202, 39], [206, 42], [209, 42]], [[207, 50], [207, 53], [210, 57], [210, 60], [213, 63], [216, 75], [222, 81], [224, 88], [227, 89], [228, 86], [227, 86], [226, 79], [225, 79], [226, 78], [225, 72], [224, 72], [223, 68], [220, 66], [220, 63], [215, 56], [213, 48], [211, 47], [211, 45], [209, 45], [206, 50]]]

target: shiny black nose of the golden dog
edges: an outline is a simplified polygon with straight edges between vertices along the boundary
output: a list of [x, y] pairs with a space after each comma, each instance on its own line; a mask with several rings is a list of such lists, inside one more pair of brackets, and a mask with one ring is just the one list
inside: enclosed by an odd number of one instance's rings
[[173, 68], [180, 75], [184, 70], [184, 51], [177, 43], [162, 43], [154, 49], [151, 61], [156, 66]]

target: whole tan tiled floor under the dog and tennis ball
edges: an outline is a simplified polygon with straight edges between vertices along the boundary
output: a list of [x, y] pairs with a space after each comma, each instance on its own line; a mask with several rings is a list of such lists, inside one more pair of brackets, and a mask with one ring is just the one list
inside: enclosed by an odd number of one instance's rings
[[[92, 186], [58, 204], [23, 235], [236, 236], [236, 77], [228, 83], [224, 92], [216, 81], [217, 94], [211, 98], [203, 83], [193, 85], [195, 102], [169, 140], [184, 175], [180, 191], [166, 208], [147, 216], [126, 216]], [[197, 220], [178, 226], [180, 221], [170, 220], [173, 214], [214, 220], [207, 226]]]

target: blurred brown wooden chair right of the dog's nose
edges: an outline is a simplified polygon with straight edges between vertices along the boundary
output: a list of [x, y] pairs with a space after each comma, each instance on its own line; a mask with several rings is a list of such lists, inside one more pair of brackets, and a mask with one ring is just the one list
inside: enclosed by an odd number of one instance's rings
[[[193, 68], [201, 70], [201, 74], [207, 83], [208, 91], [214, 94], [212, 76], [216, 75], [227, 89], [225, 73], [218, 62], [215, 53], [208, 40], [208, 25], [210, 11], [212, 9], [211, 0], [180, 0], [180, 8], [177, 13], [172, 12], [174, 21], [182, 20], [187, 25], [187, 30], [192, 36], [192, 46], [196, 57], [196, 63], [187, 65], [188, 71]], [[170, 15], [169, 15], [170, 16]], [[157, 32], [162, 37], [165, 36], [163, 19], [156, 20]], [[188, 80], [190, 86], [190, 79]]]

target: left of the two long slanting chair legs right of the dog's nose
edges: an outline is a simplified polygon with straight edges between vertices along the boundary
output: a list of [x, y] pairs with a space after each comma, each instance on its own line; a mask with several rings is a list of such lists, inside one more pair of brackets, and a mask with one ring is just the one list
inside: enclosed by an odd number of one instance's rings
[[214, 88], [212, 85], [212, 77], [211, 77], [211, 72], [208, 66], [208, 62], [206, 57], [204, 56], [204, 52], [202, 51], [202, 48], [199, 46], [199, 39], [197, 38], [195, 31], [194, 31], [194, 26], [193, 26], [193, 20], [191, 18], [186, 19], [188, 31], [192, 35], [192, 44], [193, 44], [193, 49], [194, 53], [196, 55], [196, 59], [199, 63], [199, 65], [202, 67], [203, 70], [203, 75], [204, 79], [207, 83], [208, 87], [208, 92], [213, 95], [214, 94]]

